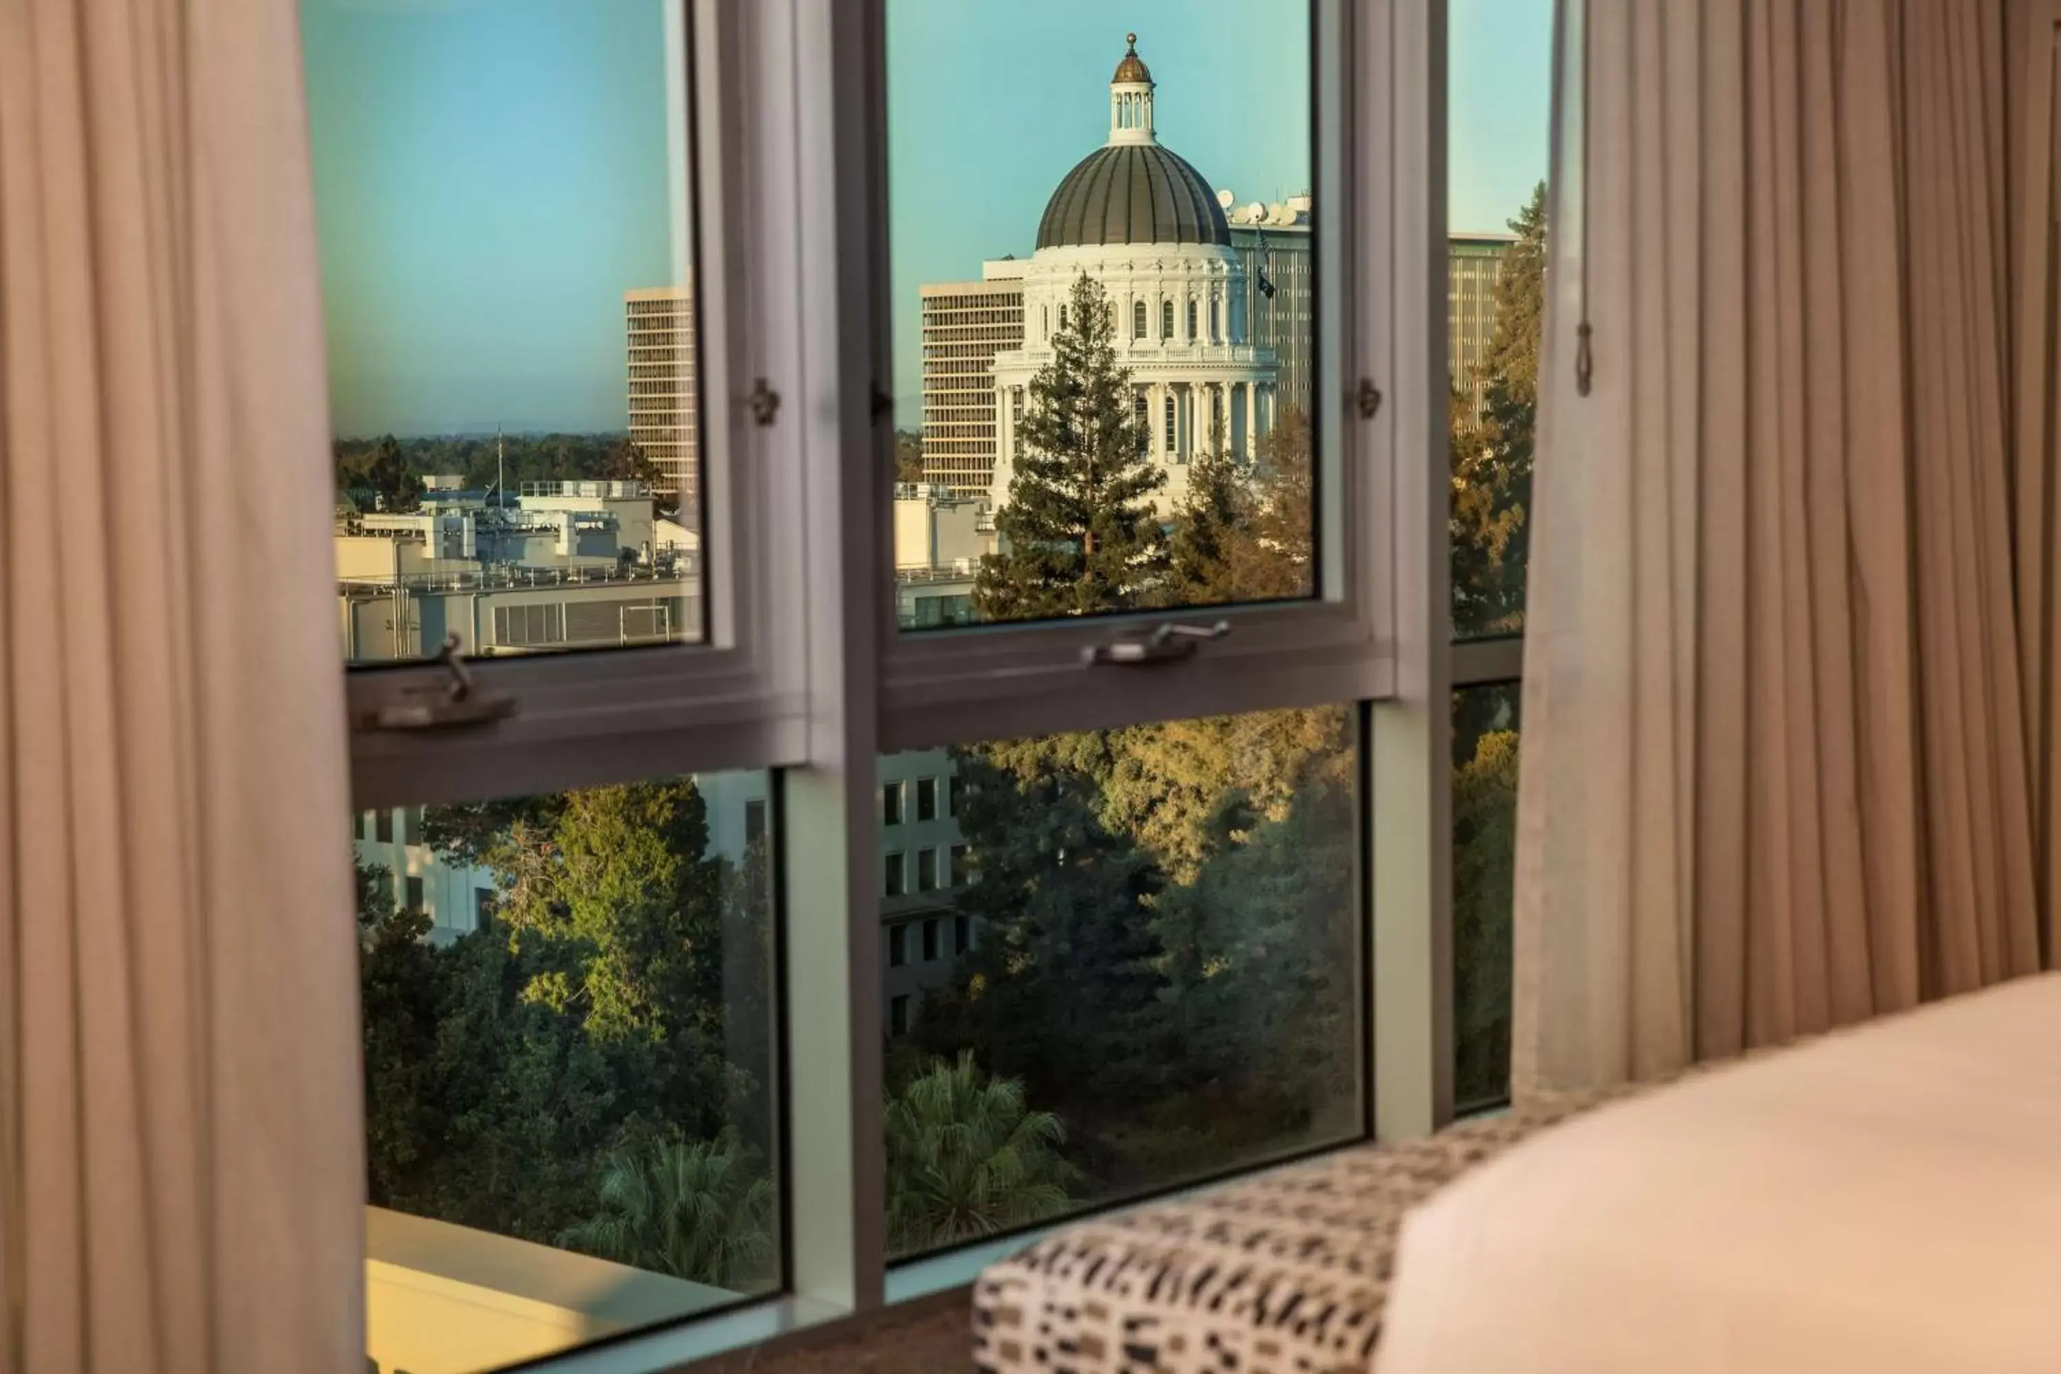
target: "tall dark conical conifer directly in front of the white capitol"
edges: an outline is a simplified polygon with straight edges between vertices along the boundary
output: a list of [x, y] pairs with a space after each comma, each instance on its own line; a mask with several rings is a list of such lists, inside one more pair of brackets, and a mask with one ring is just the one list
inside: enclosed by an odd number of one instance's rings
[[1002, 552], [981, 558], [973, 589], [987, 620], [1140, 606], [1164, 573], [1152, 494], [1167, 474], [1140, 441], [1109, 295], [1082, 272], [1061, 317], [1053, 360], [1030, 379], [1022, 455], [995, 513]]

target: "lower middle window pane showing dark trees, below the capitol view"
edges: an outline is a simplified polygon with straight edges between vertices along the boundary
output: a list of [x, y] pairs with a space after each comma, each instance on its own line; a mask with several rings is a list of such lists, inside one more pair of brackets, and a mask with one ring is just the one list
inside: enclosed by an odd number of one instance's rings
[[888, 970], [894, 1255], [1358, 1133], [1354, 721], [880, 760], [967, 781], [934, 822], [967, 882], [927, 898], [923, 962]]

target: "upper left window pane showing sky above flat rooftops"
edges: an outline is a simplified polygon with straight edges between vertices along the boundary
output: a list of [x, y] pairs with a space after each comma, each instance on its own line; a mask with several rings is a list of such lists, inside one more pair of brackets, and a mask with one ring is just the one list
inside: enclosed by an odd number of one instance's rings
[[684, 12], [301, 2], [346, 661], [703, 637]]

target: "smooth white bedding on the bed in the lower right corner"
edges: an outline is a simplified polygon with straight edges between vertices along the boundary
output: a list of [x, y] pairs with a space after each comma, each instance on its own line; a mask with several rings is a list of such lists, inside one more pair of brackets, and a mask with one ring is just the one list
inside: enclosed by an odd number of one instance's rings
[[1379, 1368], [2061, 1370], [2061, 974], [1513, 1149], [1406, 1224]]

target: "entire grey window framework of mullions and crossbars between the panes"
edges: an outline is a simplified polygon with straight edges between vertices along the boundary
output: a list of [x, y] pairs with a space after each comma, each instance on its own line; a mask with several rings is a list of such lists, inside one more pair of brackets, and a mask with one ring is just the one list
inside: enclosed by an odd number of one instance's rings
[[[971, 1277], [973, 1252], [890, 1265], [884, 1244], [880, 1038], [897, 1001], [880, 758], [901, 750], [1362, 702], [1366, 1131], [1451, 1114], [1447, 319], [1430, 309], [1445, 0], [1313, 0], [1313, 130], [1331, 132], [1315, 148], [1319, 595], [925, 634], [894, 624], [878, 476], [892, 445], [886, 0], [676, 2], [695, 27], [697, 381], [721, 398], [701, 412], [709, 643], [482, 661], [478, 682], [515, 696], [517, 717], [350, 740], [359, 810], [773, 768], [777, 836], [808, 836], [775, 843], [781, 1294], [536, 1366], [550, 1370], [662, 1368]], [[771, 424], [748, 420], [756, 379], [781, 396]], [[1354, 406], [1362, 379], [1383, 393], [1373, 418]], [[1167, 667], [1080, 667], [1084, 649], [1169, 618], [1235, 632]], [[352, 669], [352, 719], [439, 676]]]

